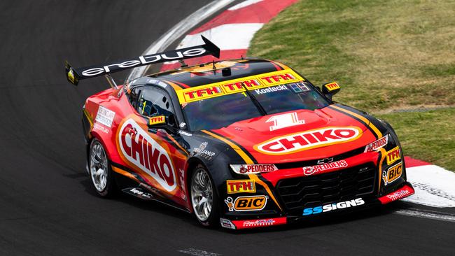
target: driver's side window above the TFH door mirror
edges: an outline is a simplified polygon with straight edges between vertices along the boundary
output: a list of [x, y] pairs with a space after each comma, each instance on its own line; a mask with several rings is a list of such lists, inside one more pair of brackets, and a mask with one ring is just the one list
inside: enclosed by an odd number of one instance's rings
[[142, 89], [137, 101], [137, 112], [149, 117], [165, 115], [169, 123], [175, 124], [174, 108], [167, 92], [155, 87], [142, 87]]

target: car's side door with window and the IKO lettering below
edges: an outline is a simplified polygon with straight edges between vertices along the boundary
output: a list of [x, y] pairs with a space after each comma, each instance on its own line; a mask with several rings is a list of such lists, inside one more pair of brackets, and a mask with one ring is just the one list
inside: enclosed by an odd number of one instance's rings
[[[171, 97], [165, 90], [153, 85], [143, 87], [137, 98], [137, 117], [143, 120], [155, 120], [164, 117], [169, 125], [177, 127], [175, 109]], [[141, 143], [144, 159], [143, 167], [151, 179], [150, 185], [156, 187], [169, 199], [186, 205], [185, 164], [188, 152], [180, 145], [179, 134], [165, 129], [146, 129]], [[139, 157], [140, 158], [140, 157]], [[141, 160], [139, 159], [139, 164]]]

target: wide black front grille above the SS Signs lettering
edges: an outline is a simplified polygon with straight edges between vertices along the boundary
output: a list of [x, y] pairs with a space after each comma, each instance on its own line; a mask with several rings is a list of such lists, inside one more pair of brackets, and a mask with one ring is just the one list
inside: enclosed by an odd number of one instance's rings
[[347, 201], [374, 192], [376, 168], [363, 164], [313, 176], [288, 178], [276, 185], [288, 211]]

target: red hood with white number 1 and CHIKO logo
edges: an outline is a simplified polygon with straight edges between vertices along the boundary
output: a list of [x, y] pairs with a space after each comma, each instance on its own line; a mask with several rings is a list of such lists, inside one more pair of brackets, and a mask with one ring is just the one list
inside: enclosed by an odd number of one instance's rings
[[258, 163], [331, 157], [376, 139], [363, 122], [329, 107], [265, 115], [214, 131], [241, 145]]

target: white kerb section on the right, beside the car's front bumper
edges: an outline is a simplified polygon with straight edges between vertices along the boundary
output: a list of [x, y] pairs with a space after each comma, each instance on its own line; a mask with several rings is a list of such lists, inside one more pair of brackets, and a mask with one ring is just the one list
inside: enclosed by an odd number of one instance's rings
[[455, 173], [435, 165], [409, 167], [406, 173], [416, 192], [403, 201], [432, 207], [455, 207]]

